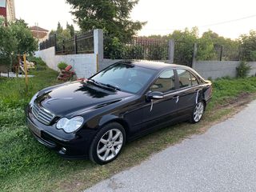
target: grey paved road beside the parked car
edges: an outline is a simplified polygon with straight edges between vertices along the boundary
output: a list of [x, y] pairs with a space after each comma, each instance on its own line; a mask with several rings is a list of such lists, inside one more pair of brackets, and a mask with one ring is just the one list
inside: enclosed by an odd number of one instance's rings
[[86, 191], [256, 191], [256, 101]]

